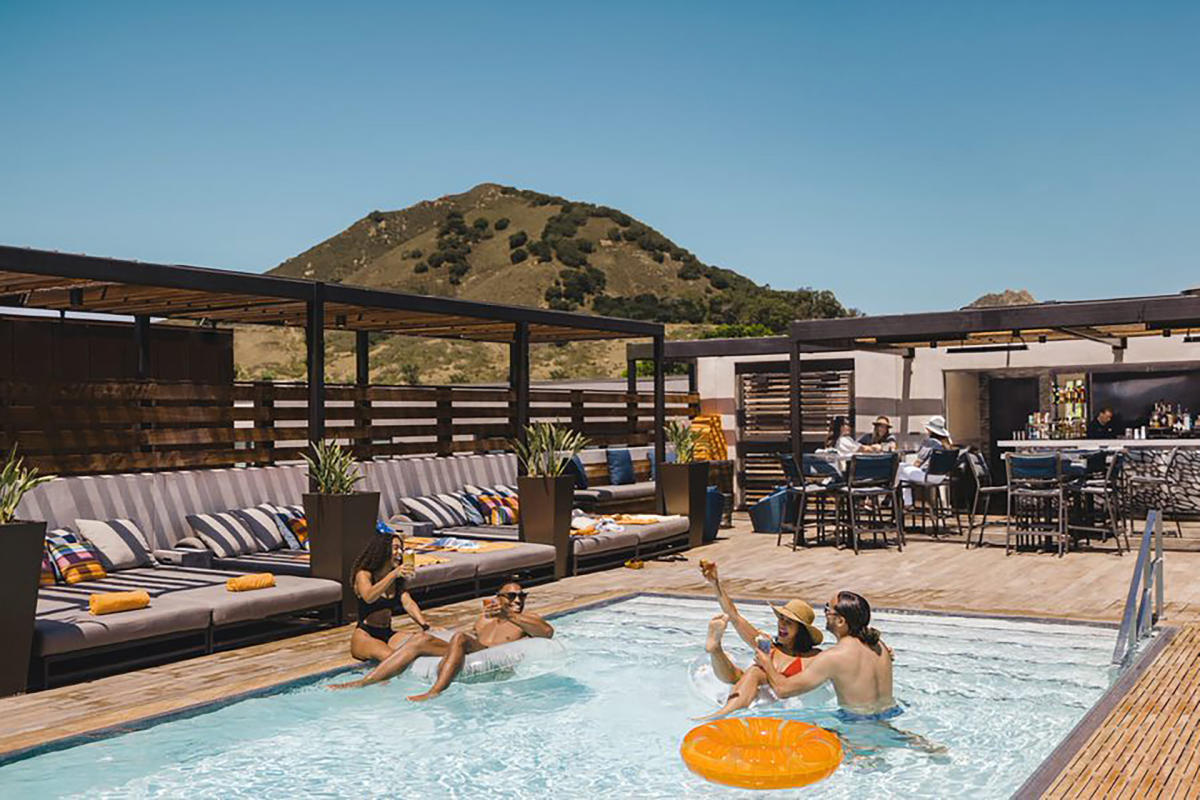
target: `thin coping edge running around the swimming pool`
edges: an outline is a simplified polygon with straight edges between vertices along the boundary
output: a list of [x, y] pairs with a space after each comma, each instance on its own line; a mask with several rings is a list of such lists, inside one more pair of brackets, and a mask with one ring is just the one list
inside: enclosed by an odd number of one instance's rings
[[[556, 618], [559, 618], [559, 616], [565, 616], [568, 614], [575, 614], [575, 613], [578, 613], [578, 612], [594, 610], [596, 608], [604, 608], [606, 606], [612, 606], [612, 604], [616, 604], [616, 603], [619, 603], [619, 602], [624, 602], [626, 600], [634, 600], [636, 597], [664, 597], [664, 599], [674, 599], [674, 600], [700, 600], [700, 599], [704, 599], [704, 597], [708, 597], [708, 596], [709, 595], [706, 595], [706, 594], [700, 594], [700, 593], [691, 594], [691, 593], [686, 593], [686, 591], [654, 591], [654, 590], [624, 591], [624, 593], [618, 593], [618, 594], [614, 594], [614, 595], [610, 595], [607, 597], [596, 597], [594, 600], [588, 600], [588, 601], [584, 601], [584, 602], [581, 602], [581, 603], [570, 604], [570, 606], [568, 606], [565, 608], [557, 608], [557, 609], [547, 613], [545, 615], [545, 618], [546, 619], [556, 619]], [[763, 597], [739, 596], [739, 597], [733, 597], [732, 600], [734, 600], [736, 602], [739, 602], [739, 603], [752, 603], [752, 604], [758, 604], [758, 606], [767, 606], [767, 604], [769, 604], [769, 601], [766, 600], [766, 599], [763, 599]], [[925, 614], [925, 615], [936, 615], [936, 616], [967, 616], [967, 618], [977, 618], [977, 619], [998, 619], [998, 620], [1007, 620], [1007, 621], [1043, 622], [1043, 624], [1056, 624], [1056, 625], [1086, 625], [1086, 626], [1090, 626], [1090, 627], [1110, 627], [1110, 628], [1118, 627], [1118, 624], [1116, 624], [1116, 622], [1108, 622], [1108, 621], [1100, 621], [1100, 620], [1090, 621], [1090, 620], [1086, 620], [1086, 619], [1070, 619], [1070, 618], [1056, 618], [1056, 616], [1033, 616], [1033, 615], [1024, 615], [1024, 614], [989, 614], [989, 613], [985, 613], [985, 612], [955, 612], [955, 610], [936, 610], [936, 609], [925, 609], [925, 608], [899, 608], [899, 607], [878, 607], [878, 608], [875, 608], [874, 610], [887, 612], [887, 613], [898, 613], [898, 614]], [[1156, 642], [1152, 643], [1152, 645], [1150, 648], [1147, 648], [1138, 657], [1138, 660], [1130, 666], [1130, 668], [1126, 672], [1126, 674], [1123, 674], [1116, 682], [1114, 682], [1112, 686], [1110, 686], [1108, 688], [1108, 691], [1104, 694], [1100, 696], [1100, 698], [1097, 700], [1097, 703], [1088, 710], [1087, 714], [1084, 715], [1084, 718], [1080, 720], [1080, 722], [1076, 723], [1076, 726], [1074, 728], [1072, 728], [1070, 733], [1067, 734], [1067, 738], [1063, 739], [1061, 742], [1058, 742], [1058, 745], [1050, 753], [1050, 756], [1045, 760], [1043, 760], [1038, 765], [1038, 768], [1031, 774], [1030, 778], [1026, 780], [1026, 783], [1021, 784], [1021, 788], [1018, 789], [1018, 794], [1014, 795], [1014, 796], [1026, 796], [1026, 795], [1021, 795], [1020, 794], [1021, 792], [1025, 790], [1026, 784], [1030, 783], [1030, 781], [1032, 781], [1034, 776], [1038, 776], [1043, 771], [1043, 769], [1045, 769], [1046, 763], [1050, 762], [1051, 758], [1055, 758], [1055, 757], [1060, 756], [1060, 750], [1063, 748], [1069, 741], [1072, 741], [1074, 739], [1074, 736], [1076, 734], [1076, 730], [1085, 722], [1092, 722], [1092, 714], [1099, 708], [1100, 704], [1108, 702], [1109, 696], [1114, 692], [1114, 690], [1116, 690], [1118, 686], [1122, 686], [1122, 691], [1120, 692], [1120, 694], [1117, 694], [1117, 696], [1115, 696], [1112, 698], [1112, 706], [1115, 706], [1116, 703], [1120, 702], [1120, 699], [1122, 697], [1124, 697], [1126, 693], [1128, 693], [1129, 688], [1132, 688], [1132, 686], [1133, 686], [1133, 682], [1129, 682], [1129, 685], [1124, 686], [1123, 685], [1124, 679], [1128, 675], [1130, 675], [1132, 673], [1134, 673], [1135, 670], [1138, 672], [1138, 675], [1140, 675], [1141, 672], [1144, 672], [1151, 663], [1153, 663], [1153, 658], [1157, 658], [1158, 654], [1165, 646], [1166, 642], [1169, 642], [1171, 638], [1174, 638], [1175, 633], [1178, 631], [1178, 627], [1177, 626], [1162, 626], [1162, 627], [1158, 627], [1157, 630], [1159, 630], [1162, 632], [1162, 634], [1158, 637], [1158, 639], [1156, 639]], [[1163, 634], [1165, 634], [1165, 636], [1163, 636]], [[1162, 645], [1159, 645], [1159, 640], [1162, 640]], [[1153, 654], [1153, 656], [1147, 661], [1147, 656], [1150, 656], [1151, 654]], [[314, 684], [314, 682], [318, 682], [318, 681], [324, 680], [326, 678], [332, 678], [334, 675], [340, 675], [342, 673], [352, 672], [354, 669], [360, 669], [360, 668], [361, 668], [361, 664], [346, 664], [346, 666], [342, 666], [342, 667], [334, 667], [334, 668], [330, 668], [330, 669], [322, 669], [322, 670], [311, 673], [308, 675], [304, 675], [301, 678], [293, 678], [293, 679], [289, 679], [289, 680], [282, 680], [282, 681], [280, 681], [277, 684], [270, 684], [270, 685], [266, 685], [266, 686], [258, 686], [258, 687], [254, 687], [254, 688], [248, 688], [248, 690], [245, 690], [245, 691], [241, 691], [241, 692], [234, 692], [233, 694], [228, 694], [226, 697], [221, 697], [221, 698], [216, 698], [216, 699], [211, 699], [211, 700], [200, 700], [198, 703], [192, 703], [192, 704], [188, 704], [188, 705], [184, 705], [184, 706], [180, 706], [180, 708], [176, 708], [176, 709], [172, 709], [169, 711], [160, 711], [157, 714], [150, 714], [150, 715], [146, 715], [144, 717], [138, 717], [136, 720], [127, 720], [127, 721], [124, 721], [124, 722], [118, 722], [118, 723], [114, 723], [114, 724], [102, 726], [102, 727], [94, 728], [91, 730], [85, 730], [85, 732], [82, 732], [82, 733], [67, 734], [65, 736], [59, 736], [56, 739], [47, 739], [46, 741], [40, 741], [40, 742], [35, 744], [35, 745], [26, 745], [24, 747], [16, 747], [13, 750], [2, 751], [2, 752], [0, 752], [0, 768], [8, 766], [10, 764], [14, 764], [17, 762], [23, 762], [23, 760], [26, 760], [26, 759], [30, 759], [30, 758], [35, 758], [35, 757], [42, 756], [44, 753], [58, 752], [58, 751], [61, 751], [61, 750], [71, 750], [72, 747], [77, 747], [79, 745], [85, 745], [85, 744], [89, 744], [89, 742], [92, 742], [92, 741], [100, 741], [100, 740], [103, 740], [103, 739], [112, 739], [112, 738], [119, 736], [121, 734], [134, 733], [134, 732], [138, 732], [138, 730], [144, 730], [146, 728], [152, 728], [152, 727], [162, 724], [164, 722], [172, 722], [174, 720], [184, 720], [184, 718], [198, 716], [200, 714], [208, 714], [208, 712], [211, 712], [211, 711], [217, 711], [217, 710], [220, 710], [220, 709], [222, 709], [222, 708], [224, 708], [227, 705], [232, 705], [234, 703], [240, 703], [242, 700], [252, 699], [252, 698], [256, 698], [256, 697], [270, 697], [271, 694], [278, 694], [281, 692], [284, 692], [284, 691], [288, 691], [288, 690], [292, 690], [292, 688], [305, 686], [307, 684]], [[1094, 728], [1097, 728], [1099, 726], [1099, 723], [1103, 722], [1104, 717], [1108, 716], [1108, 712], [1110, 710], [1111, 710], [1111, 706], [1105, 710], [1104, 715], [1099, 716], [1094, 722], [1092, 722], [1091, 728], [1087, 730], [1087, 735], [1091, 735], [1092, 730], [1094, 730]], [[1086, 740], [1087, 740], [1086, 736], [1084, 736], [1080, 741], [1078, 741], [1075, 744], [1074, 750], [1070, 751], [1070, 757], [1074, 757], [1074, 753], [1078, 752], [1080, 747], [1082, 747], [1082, 744]], [[1057, 777], [1058, 772], [1061, 772], [1062, 769], [1066, 768], [1066, 765], [1067, 765], [1067, 763], [1069, 763], [1069, 760], [1070, 760], [1070, 758], [1067, 758], [1060, 765], [1058, 771], [1054, 772], [1050, 776], [1051, 782], [1052, 782], [1052, 778]], [[1046, 786], [1049, 786], [1049, 783]], [[1028, 795], [1028, 796], [1038, 796], [1038, 795], [1034, 794], [1034, 795]]]

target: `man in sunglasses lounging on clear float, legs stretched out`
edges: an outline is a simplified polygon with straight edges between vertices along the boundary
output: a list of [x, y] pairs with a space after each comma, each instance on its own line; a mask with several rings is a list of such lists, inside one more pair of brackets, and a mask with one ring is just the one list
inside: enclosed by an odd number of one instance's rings
[[334, 688], [354, 688], [390, 680], [408, 669], [421, 656], [440, 656], [438, 678], [433, 687], [410, 700], [427, 700], [437, 697], [462, 669], [463, 661], [472, 652], [479, 652], [499, 644], [508, 644], [527, 637], [548, 639], [554, 628], [538, 614], [524, 609], [528, 593], [516, 581], [500, 587], [496, 597], [484, 601], [484, 613], [469, 627], [457, 631], [449, 640], [421, 632], [402, 644], [360, 680], [337, 684]]

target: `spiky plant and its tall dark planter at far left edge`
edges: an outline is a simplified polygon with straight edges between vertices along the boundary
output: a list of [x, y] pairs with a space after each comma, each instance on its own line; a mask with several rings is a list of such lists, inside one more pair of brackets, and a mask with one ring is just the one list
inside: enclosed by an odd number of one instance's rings
[[17, 519], [17, 506], [31, 489], [53, 475], [38, 475], [25, 467], [13, 445], [0, 468], [0, 697], [19, 694], [29, 680], [29, 656], [34, 646], [34, 614], [37, 610], [37, 585], [42, 551], [46, 547], [46, 522]]

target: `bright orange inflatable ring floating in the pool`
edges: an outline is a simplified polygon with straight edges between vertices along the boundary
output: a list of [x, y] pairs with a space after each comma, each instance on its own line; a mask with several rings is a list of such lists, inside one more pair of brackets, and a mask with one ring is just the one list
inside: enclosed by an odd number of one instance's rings
[[838, 736], [806, 722], [731, 717], [692, 728], [679, 747], [696, 775], [743, 789], [792, 789], [841, 764]]

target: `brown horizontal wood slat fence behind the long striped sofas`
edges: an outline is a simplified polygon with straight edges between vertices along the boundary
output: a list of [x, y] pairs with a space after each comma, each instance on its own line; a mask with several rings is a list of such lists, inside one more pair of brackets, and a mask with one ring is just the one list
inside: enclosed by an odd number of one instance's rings
[[[304, 384], [0, 380], [0, 447], [58, 475], [274, 464], [298, 461], [308, 438]], [[654, 396], [534, 389], [530, 421], [557, 421], [592, 441], [649, 444]], [[696, 395], [666, 395], [667, 417], [700, 413]], [[515, 395], [506, 389], [325, 389], [325, 434], [359, 458], [506, 450]]]

